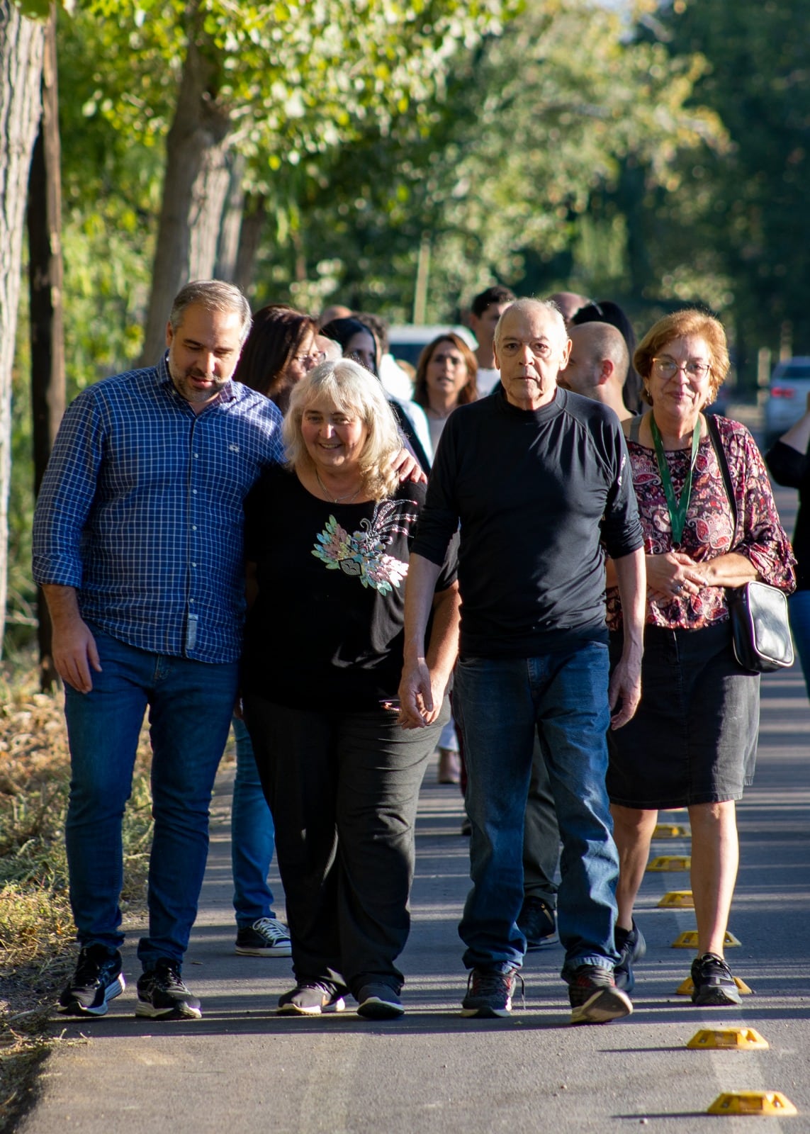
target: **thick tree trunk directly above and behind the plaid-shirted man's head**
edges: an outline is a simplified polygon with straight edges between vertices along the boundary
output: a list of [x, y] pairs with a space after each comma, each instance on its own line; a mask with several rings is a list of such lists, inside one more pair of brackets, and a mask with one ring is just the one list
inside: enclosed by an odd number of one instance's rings
[[141, 365], [152, 366], [166, 346], [171, 302], [192, 279], [213, 273], [228, 193], [230, 116], [211, 86], [216, 64], [189, 36], [175, 119], [167, 137], [163, 200]]

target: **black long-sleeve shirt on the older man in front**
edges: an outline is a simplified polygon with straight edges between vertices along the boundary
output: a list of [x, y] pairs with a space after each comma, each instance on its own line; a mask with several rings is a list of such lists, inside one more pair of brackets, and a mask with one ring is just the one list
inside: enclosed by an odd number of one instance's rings
[[642, 547], [616, 415], [558, 389], [537, 411], [503, 388], [441, 435], [413, 552], [441, 564], [461, 522], [461, 652], [523, 658], [606, 641], [605, 555]]

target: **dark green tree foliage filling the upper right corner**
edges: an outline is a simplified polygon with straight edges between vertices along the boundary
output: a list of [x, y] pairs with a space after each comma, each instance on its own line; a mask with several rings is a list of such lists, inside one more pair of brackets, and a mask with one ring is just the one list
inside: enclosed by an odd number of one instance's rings
[[681, 242], [676, 273], [711, 263], [725, 279], [752, 381], [757, 348], [778, 350], [786, 332], [795, 353], [810, 353], [810, 9], [802, 0], [676, 0], [652, 34], [672, 57], [707, 60], [693, 100], [723, 119], [729, 145], [684, 161], [675, 200], [656, 202], [649, 219], [667, 247]]

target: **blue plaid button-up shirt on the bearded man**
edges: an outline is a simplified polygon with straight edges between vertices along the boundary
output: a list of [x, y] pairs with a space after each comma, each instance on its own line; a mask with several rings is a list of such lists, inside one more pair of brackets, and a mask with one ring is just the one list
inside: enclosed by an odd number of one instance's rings
[[158, 366], [108, 378], [65, 414], [34, 517], [34, 578], [76, 587], [82, 617], [153, 653], [239, 657], [242, 502], [284, 459], [281, 415], [228, 382], [195, 414]]

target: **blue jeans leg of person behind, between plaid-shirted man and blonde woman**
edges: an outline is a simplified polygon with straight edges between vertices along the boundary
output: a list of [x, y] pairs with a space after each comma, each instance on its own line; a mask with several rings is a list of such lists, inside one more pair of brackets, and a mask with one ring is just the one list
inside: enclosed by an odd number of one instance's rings
[[230, 810], [230, 865], [234, 875], [234, 909], [239, 929], [260, 917], [275, 917], [268, 871], [276, 847], [276, 829], [268, 807], [251, 734], [234, 717], [236, 778]]

